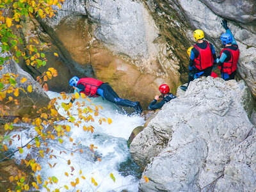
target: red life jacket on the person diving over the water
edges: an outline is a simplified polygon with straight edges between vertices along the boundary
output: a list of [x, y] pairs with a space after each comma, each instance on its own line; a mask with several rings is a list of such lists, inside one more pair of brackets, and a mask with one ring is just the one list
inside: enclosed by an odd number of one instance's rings
[[99, 97], [98, 95], [96, 95], [96, 93], [97, 93], [97, 89], [102, 83], [103, 83], [102, 81], [99, 81], [97, 79], [93, 79], [90, 77], [81, 78], [77, 82], [77, 84], [83, 84], [85, 86], [84, 91], [82, 91], [81, 93], [84, 93], [89, 97]]

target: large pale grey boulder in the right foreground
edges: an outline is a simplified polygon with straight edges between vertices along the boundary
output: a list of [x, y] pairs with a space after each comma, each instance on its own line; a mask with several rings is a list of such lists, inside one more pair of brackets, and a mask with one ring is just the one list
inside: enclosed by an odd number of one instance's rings
[[255, 189], [255, 127], [244, 111], [252, 102], [241, 99], [247, 94], [243, 81], [207, 77], [165, 104], [130, 145], [149, 179], [141, 179], [140, 191]]

